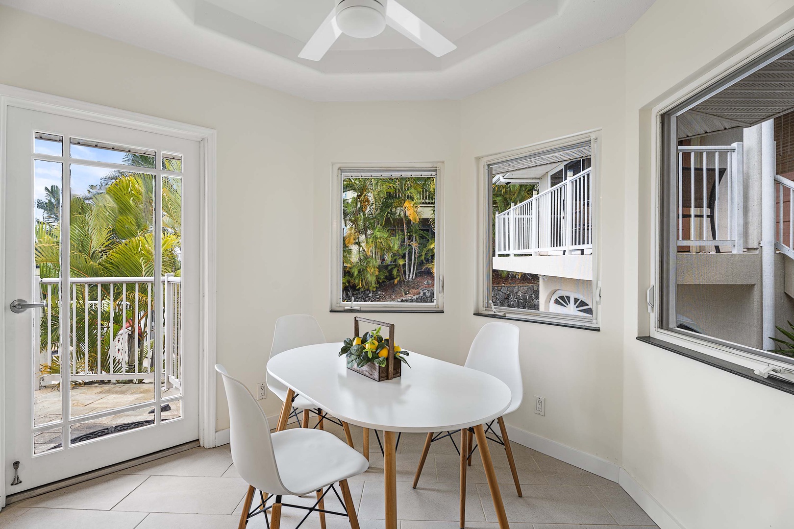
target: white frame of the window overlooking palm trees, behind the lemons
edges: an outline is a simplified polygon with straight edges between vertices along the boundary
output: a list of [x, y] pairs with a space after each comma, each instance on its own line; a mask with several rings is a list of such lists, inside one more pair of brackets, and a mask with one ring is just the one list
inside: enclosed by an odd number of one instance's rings
[[[342, 171], [435, 171], [435, 303], [360, 303], [341, 301], [342, 282]], [[331, 172], [330, 312], [444, 312], [444, 163], [334, 163]]]

